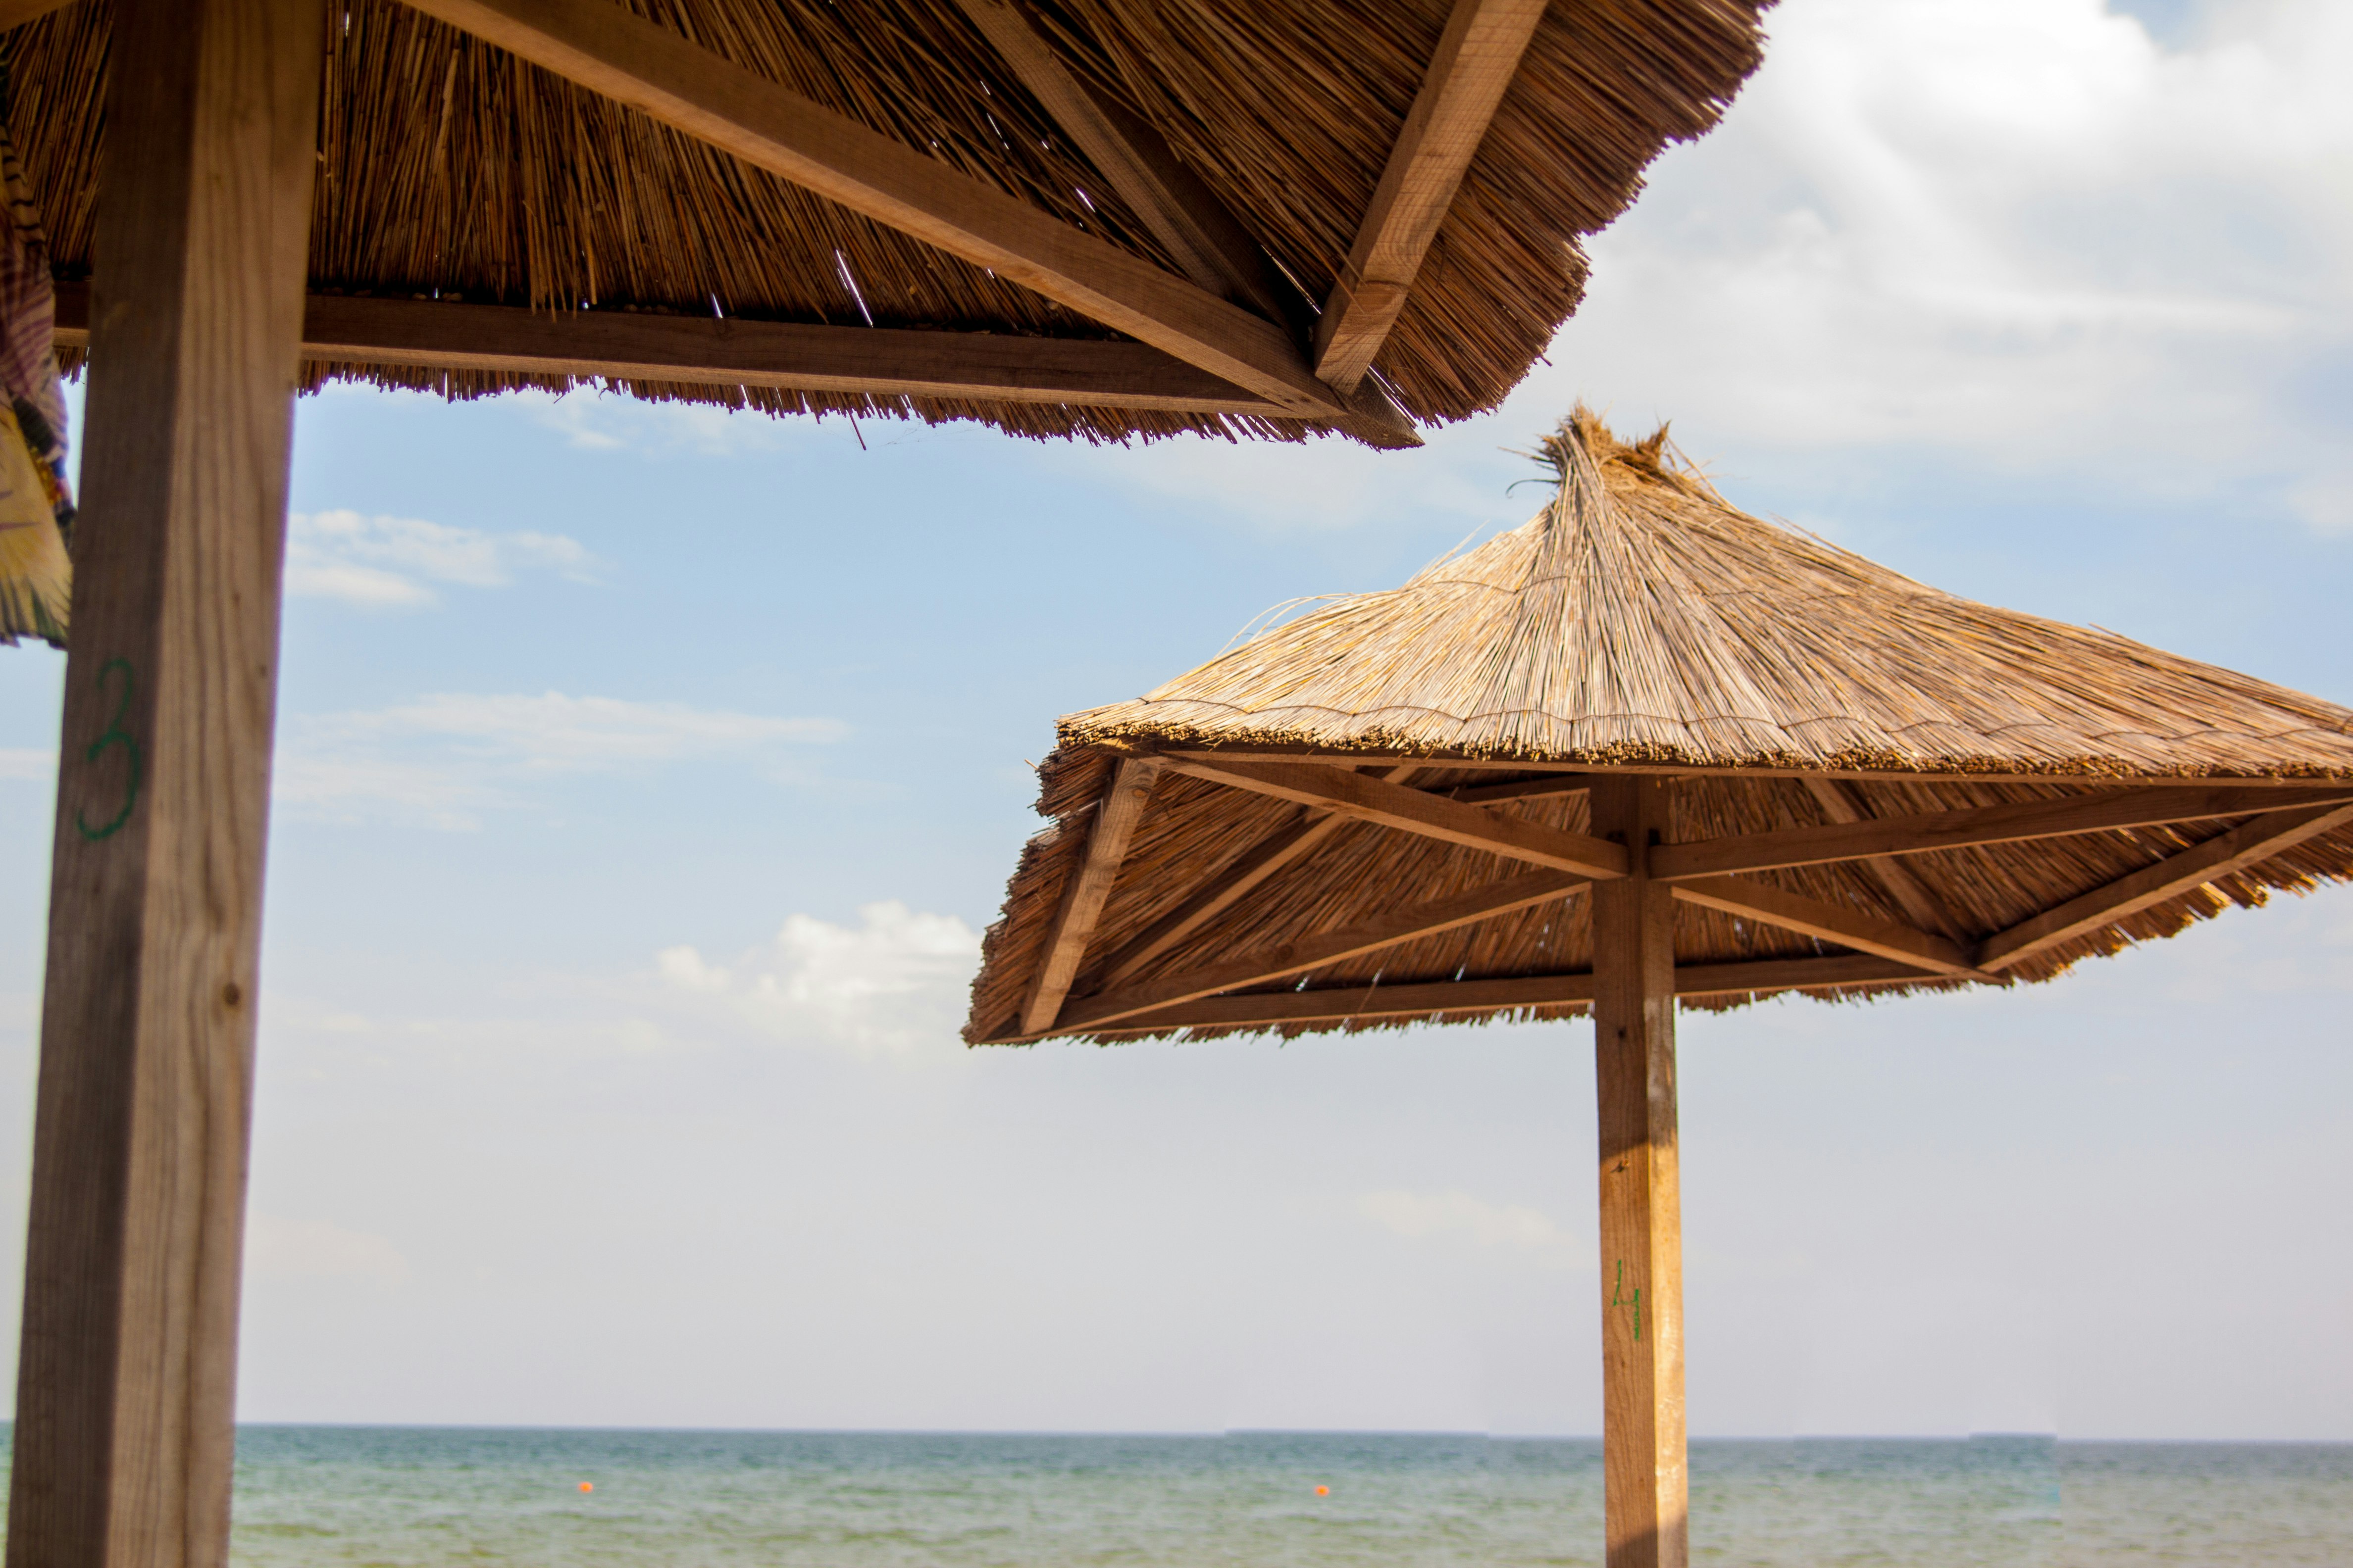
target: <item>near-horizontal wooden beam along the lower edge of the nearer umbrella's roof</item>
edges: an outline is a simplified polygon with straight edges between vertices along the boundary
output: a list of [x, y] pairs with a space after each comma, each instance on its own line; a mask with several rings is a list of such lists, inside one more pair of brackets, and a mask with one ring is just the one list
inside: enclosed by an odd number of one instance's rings
[[[89, 343], [89, 284], [56, 284], [56, 343]], [[351, 364], [1287, 418], [1264, 397], [1151, 343], [988, 331], [313, 294], [301, 353]]]

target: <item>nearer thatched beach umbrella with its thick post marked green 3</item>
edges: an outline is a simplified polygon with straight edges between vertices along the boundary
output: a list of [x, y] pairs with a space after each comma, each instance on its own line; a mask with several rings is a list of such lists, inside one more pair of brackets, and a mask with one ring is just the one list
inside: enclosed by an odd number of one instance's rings
[[0, 639], [71, 642], [9, 1561], [226, 1554], [301, 386], [1409, 447], [1762, 5], [0, 0], [0, 343], [89, 360], [71, 616], [68, 498], [0, 520]]

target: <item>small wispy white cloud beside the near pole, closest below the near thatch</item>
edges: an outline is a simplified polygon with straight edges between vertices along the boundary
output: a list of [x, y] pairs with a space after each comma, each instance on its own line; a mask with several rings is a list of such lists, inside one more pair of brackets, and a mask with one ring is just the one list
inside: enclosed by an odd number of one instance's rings
[[485, 534], [351, 510], [287, 520], [287, 592], [353, 604], [433, 604], [435, 583], [504, 588], [525, 569], [579, 578], [588, 550], [562, 534]]

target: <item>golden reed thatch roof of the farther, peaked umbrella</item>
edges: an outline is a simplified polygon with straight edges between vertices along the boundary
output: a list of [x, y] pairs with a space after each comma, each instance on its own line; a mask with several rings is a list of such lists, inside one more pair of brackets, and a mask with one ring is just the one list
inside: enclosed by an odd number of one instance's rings
[[[1574, 790], [1584, 773], [1680, 769], [1671, 844], [1854, 816], [2089, 799], [2113, 795], [2118, 783], [2148, 788], [2141, 780], [2315, 785], [2299, 799], [2329, 797], [2334, 780], [2353, 780], [2353, 710], [2113, 632], [1972, 604], [1748, 517], [1680, 461], [1664, 430], [1631, 444], [1579, 409], [1544, 442], [1544, 456], [1560, 489], [1529, 524], [1400, 590], [1327, 602], [1146, 698], [1061, 722], [1038, 804], [1054, 825], [1024, 851], [1005, 917], [988, 933], [969, 1041], [1231, 1032], [1146, 1027], [1148, 1016], [1125, 1027], [1019, 1027], [1066, 884], [1087, 856], [1096, 806], [1115, 766], [1134, 757], [1282, 752], [1374, 776], [1405, 769], [1391, 778], [1424, 792], [1475, 788], [1487, 811], [1569, 832], [1588, 825], [1586, 797]], [[1160, 773], [1127, 842], [1071, 985], [1075, 1001], [1104, 992], [1106, 980], [1113, 990], [1151, 987], [1214, 964], [1247, 969], [1240, 961], [1252, 954], [1529, 872], [1485, 849], [1318, 818], [1301, 804], [1184, 776], [1179, 766], [1169, 762]], [[1548, 792], [1499, 799], [1515, 788]], [[2353, 799], [2353, 785], [2337, 797]], [[2209, 844], [2233, 820], [1972, 844], [1904, 853], [1901, 863], [1795, 865], [1755, 882], [1868, 919], [1925, 926], [1967, 952]], [[1181, 940], [1155, 947], [1155, 924], [1165, 931], [1202, 889], [1233, 879], [1282, 835], [1311, 827], [1320, 832], [1311, 849]], [[2339, 823], [2120, 910], [2007, 964], [2000, 978], [2047, 980], [2075, 959], [2172, 936], [2233, 903], [2257, 905], [2273, 889], [2306, 891], [2346, 877], [2353, 825]], [[1365, 992], [1360, 1016], [1287, 1025], [1287, 1034], [1398, 1027], [1428, 1016], [1572, 1016], [1584, 1009], [1433, 1006], [1395, 1016], [1377, 1001], [1379, 990], [1400, 985], [1588, 971], [1586, 903], [1555, 896], [1224, 994]], [[1840, 952], [1692, 903], [1678, 903], [1675, 922], [1678, 966]], [[1791, 990], [1852, 994], [1984, 978], [1993, 976], [1880, 973]]]

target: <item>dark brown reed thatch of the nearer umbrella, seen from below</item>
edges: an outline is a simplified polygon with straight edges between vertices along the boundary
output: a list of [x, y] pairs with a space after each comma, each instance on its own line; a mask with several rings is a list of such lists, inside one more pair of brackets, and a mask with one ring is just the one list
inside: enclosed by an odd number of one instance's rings
[[[1758, 63], [1769, 0], [1555, 5], [1508, 89], [1377, 371], [1407, 414], [1492, 407], [1577, 308], [1579, 237], [1642, 167], [1715, 125]], [[631, 0], [734, 63], [1160, 266], [1144, 223], [1068, 146], [951, 0]], [[1445, 26], [1447, 0], [1052, 0], [1040, 24], [1242, 216], [1311, 299], [1353, 226]], [[16, 146], [66, 277], [89, 268], [108, 5], [9, 35]], [[329, 38], [311, 277], [322, 292], [852, 327], [1104, 339], [1108, 329], [624, 110], [393, 0]], [[1085, 195], [1082, 195], [1085, 193]], [[1174, 268], [1172, 268], [1174, 270]], [[329, 378], [475, 397], [562, 376], [313, 364]], [[976, 418], [1019, 435], [1294, 421], [779, 388], [626, 383], [645, 397]]]

